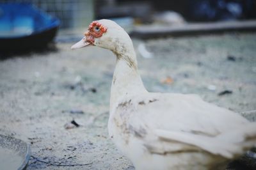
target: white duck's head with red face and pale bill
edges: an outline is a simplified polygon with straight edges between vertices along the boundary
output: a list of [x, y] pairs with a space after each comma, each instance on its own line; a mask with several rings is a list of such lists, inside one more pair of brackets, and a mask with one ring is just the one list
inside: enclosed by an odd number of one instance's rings
[[88, 26], [88, 31], [84, 33], [84, 38], [72, 45], [71, 49], [80, 49], [95, 45], [104, 49], [118, 53], [127, 46], [132, 46], [131, 38], [113, 20], [95, 20]]

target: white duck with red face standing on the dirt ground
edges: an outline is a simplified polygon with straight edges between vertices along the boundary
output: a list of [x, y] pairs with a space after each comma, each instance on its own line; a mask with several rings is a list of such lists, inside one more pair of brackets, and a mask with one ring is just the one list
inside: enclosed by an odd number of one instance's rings
[[72, 49], [116, 55], [108, 130], [136, 169], [218, 169], [256, 143], [256, 124], [197, 95], [148, 93], [131, 38], [111, 20], [92, 22]]

